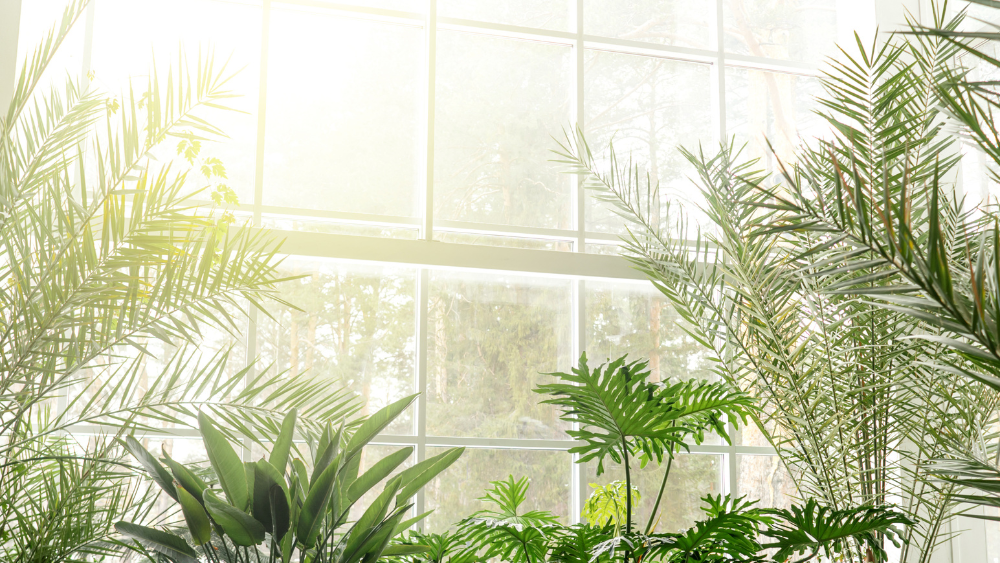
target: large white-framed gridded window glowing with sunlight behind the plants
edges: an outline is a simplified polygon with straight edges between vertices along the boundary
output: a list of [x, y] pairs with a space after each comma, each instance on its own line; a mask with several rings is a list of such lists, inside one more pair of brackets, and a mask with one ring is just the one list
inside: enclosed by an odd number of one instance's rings
[[[23, 2], [22, 50], [58, 13]], [[818, 131], [817, 65], [848, 0], [95, 0], [60, 64], [96, 87], [214, 46], [240, 69], [226, 165], [240, 211], [288, 237], [284, 297], [255, 315], [238, 362], [341, 381], [369, 409], [420, 392], [380, 438], [469, 450], [417, 511], [442, 529], [490, 480], [531, 479], [529, 503], [579, 518], [588, 482], [566, 425], [537, 404], [545, 372], [629, 353], [653, 377], [709, 377], [667, 301], [613, 256], [622, 224], [553, 164], [579, 125], [697, 204], [678, 145], [735, 137], [771, 166]], [[231, 55], [231, 57], [230, 57]], [[196, 443], [158, 439], [197, 459]], [[660, 529], [699, 497], [780, 505], [790, 479], [759, 433], [692, 446]], [[655, 494], [658, 471], [639, 486]], [[641, 510], [649, 510], [643, 505]]]

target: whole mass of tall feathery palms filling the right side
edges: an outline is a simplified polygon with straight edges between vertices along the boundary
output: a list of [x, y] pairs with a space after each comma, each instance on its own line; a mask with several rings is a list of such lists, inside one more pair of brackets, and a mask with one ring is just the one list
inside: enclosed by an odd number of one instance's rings
[[732, 146], [683, 151], [704, 230], [613, 147], [599, 161], [577, 132], [557, 151], [628, 222], [624, 253], [717, 373], [759, 398], [754, 422], [800, 493], [833, 510], [900, 499], [914, 522], [901, 561], [929, 561], [961, 501], [1000, 506], [997, 209], [966, 210], [945, 180], [962, 135], [1000, 164], [995, 83], [956, 62], [1000, 67], [973, 47], [1000, 34], [958, 31], [946, 7], [831, 61], [819, 105], [832, 134], [778, 174]]

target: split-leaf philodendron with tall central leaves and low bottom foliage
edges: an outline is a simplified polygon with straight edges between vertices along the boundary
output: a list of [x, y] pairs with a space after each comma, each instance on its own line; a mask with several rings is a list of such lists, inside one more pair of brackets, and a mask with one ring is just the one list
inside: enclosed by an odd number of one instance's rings
[[[626, 476], [636, 457], [645, 454], [657, 463], [672, 459], [684, 448], [684, 438], [698, 441], [712, 429], [726, 436], [722, 417], [738, 423], [752, 409], [749, 397], [726, 383], [650, 383], [645, 362], [629, 363], [624, 357], [591, 368], [584, 356], [571, 374], [553, 375], [558, 383], [540, 385], [536, 391], [552, 396], [547, 401], [559, 405], [567, 420], [589, 426], [574, 435], [583, 442], [576, 449], [581, 462], [593, 458], [621, 463]], [[603, 512], [603, 521], [567, 526], [548, 511], [525, 510], [527, 490], [526, 478], [493, 482], [480, 499], [486, 508], [460, 521], [455, 533], [411, 534], [400, 540], [399, 545], [433, 546], [401, 557], [412, 563], [495, 558], [512, 563], [721, 562], [765, 561], [766, 550], [773, 549], [775, 561], [807, 561], [848, 555], [861, 546], [871, 560], [885, 561], [882, 543], [895, 542], [897, 526], [910, 523], [887, 507], [837, 511], [810, 500], [801, 508], [762, 509], [744, 499], [708, 496], [703, 499], [704, 520], [689, 530], [654, 533], [637, 526], [633, 531], [625, 521], [631, 517], [625, 507], [632, 494], [626, 482], [597, 490], [597, 500], [613, 508], [585, 510], [593, 517]]]

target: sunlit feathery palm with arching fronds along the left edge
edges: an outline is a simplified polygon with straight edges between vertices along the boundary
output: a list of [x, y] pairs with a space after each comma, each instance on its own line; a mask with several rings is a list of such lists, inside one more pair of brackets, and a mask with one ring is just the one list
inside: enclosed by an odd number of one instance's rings
[[[222, 164], [197, 151], [221, 134], [204, 116], [227, 107], [230, 71], [182, 57], [122, 94], [44, 86], [87, 5], [65, 9], [0, 115], [5, 561], [106, 556], [119, 549], [115, 521], [159, 517], [117, 441], [130, 432], [190, 426], [200, 409], [260, 440], [292, 407], [315, 433], [357, 409], [336, 386], [229, 369], [230, 349], [198, 350], [211, 331], [239, 334], [245, 303], [259, 307], [281, 281], [274, 240], [230, 228], [188, 189], [232, 203]], [[152, 158], [178, 143], [194, 172]]]

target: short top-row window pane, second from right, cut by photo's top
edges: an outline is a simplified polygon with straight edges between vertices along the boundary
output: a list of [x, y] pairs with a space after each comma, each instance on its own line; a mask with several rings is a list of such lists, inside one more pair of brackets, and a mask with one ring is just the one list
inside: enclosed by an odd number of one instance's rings
[[679, 47], [709, 48], [715, 3], [691, 0], [584, 0], [583, 31]]

